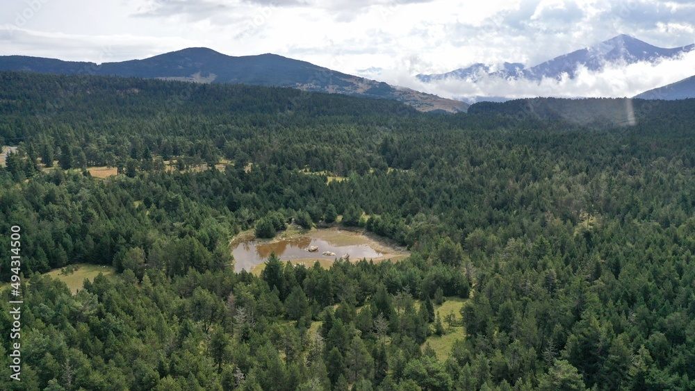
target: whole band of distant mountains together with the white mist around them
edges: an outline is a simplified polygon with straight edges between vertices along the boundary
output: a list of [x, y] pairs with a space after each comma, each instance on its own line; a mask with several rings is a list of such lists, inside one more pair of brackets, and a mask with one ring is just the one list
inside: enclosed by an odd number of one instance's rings
[[[629, 35], [617, 35], [532, 67], [523, 63], [475, 63], [441, 74], [398, 78], [395, 82], [409, 88], [373, 80], [391, 79], [386, 76], [388, 71], [379, 67], [357, 71], [366, 76], [361, 77], [272, 53], [237, 57], [202, 47], [163, 53], [143, 60], [102, 64], [0, 56], [0, 70], [288, 87], [394, 99], [421, 111], [456, 113], [466, 111], [468, 104], [476, 101], [530, 97], [695, 97], [692, 80], [657, 90], [678, 81], [678, 76], [687, 78], [695, 74], [694, 49], [695, 44], [660, 48]], [[647, 94], [646, 90], [651, 92]]]

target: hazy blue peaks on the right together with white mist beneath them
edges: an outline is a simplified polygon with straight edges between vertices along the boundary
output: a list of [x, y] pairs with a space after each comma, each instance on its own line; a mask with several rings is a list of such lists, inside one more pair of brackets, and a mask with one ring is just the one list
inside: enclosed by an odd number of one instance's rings
[[[660, 48], [629, 35], [617, 35], [591, 47], [557, 56], [532, 67], [523, 63], [475, 63], [442, 74], [418, 74], [425, 90], [446, 92], [469, 103], [519, 97], [625, 97], [664, 82], [644, 76], [654, 67], [666, 78], [676, 72], [695, 74], [695, 44]], [[683, 61], [689, 59], [689, 61]], [[685, 66], [683, 65], [685, 63]], [[691, 69], [692, 68], [692, 69]], [[640, 85], [646, 88], [639, 89]], [[429, 88], [427, 88], [429, 86]]]

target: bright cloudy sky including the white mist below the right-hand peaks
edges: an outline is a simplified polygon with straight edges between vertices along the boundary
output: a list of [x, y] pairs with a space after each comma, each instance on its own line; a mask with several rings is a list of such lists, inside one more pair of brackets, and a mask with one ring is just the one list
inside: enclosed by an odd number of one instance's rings
[[695, 53], [572, 81], [424, 85], [414, 75], [473, 63], [537, 65], [628, 34], [658, 47], [695, 42], [695, 4], [653, 1], [3, 0], [0, 55], [95, 63], [186, 47], [277, 53], [445, 97], [632, 96], [695, 74]]

